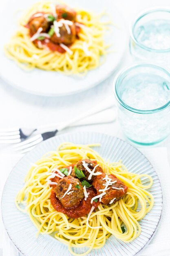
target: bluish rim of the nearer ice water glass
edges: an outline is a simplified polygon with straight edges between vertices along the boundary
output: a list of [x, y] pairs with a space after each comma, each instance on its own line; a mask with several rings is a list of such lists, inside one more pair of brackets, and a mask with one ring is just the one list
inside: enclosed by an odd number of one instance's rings
[[166, 104], [164, 104], [163, 106], [161, 106], [159, 108], [155, 108], [155, 109], [151, 109], [151, 110], [140, 110], [140, 109], [137, 109], [137, 108], [130, 107], [129, 105], [124, 103], [124, 101], [119, 97], [119, 94], [117, 92], [117, 84], [119, 83], [119, 79], [121, 77], [125, 76], [127, 74], [127, 72], [130, 72], [131, 70], [133, 70], [135, 68], [139, 68], [139, 67], [152, 67], [152, 68], [161, 70], [164, 73], [166, 73], [166, 75], [168, 75], [169, 78], [170, 78], [170, 72], [168, 72], [168, 70], [166, 70], [165, 68], [159, 67], [157, 65], [148, 64], [148, 63], [142, 63], [142, 64], [135, 64], [135, 65], [132, 65], [130, 67], [127, 67], [126, 69], [123, 69], [120, 72], [118, 72], [117, 76], [115, 76], [115, 79], [113, 81], [113, 91], [114, 91], [115, 98], [118, 101], [118, 103], [122, 107], [126, 108], [127, 110], [129, 110], [131, 112], [138, 113], [138, 114], [154, 114], [154, 113], [157, 113], [157, 112], [159, 112], [161, 110], [164, 110], [164, 109], [168, 108], [170, 106], [170, 100]]

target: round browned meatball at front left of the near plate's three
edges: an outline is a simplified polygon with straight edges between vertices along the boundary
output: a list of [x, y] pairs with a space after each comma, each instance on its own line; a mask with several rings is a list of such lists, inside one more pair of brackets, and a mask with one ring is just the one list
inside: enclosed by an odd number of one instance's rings
[[[64, 196], [70, 184], [72, 185], [71, 189]], [[84, 191], [83, 191], [83, 186], [81, 182], [78, 179], [75, 179], [74, 177], [72, 177], [71, 175], [68, 175], [67, 177], [62, 178], [59, 181], [59, 183], [55, 187], [55, 193], [57, 198], [62, 203], [63, 207], [66, 209], [77, 207], [80, 201], [84, 198]]]

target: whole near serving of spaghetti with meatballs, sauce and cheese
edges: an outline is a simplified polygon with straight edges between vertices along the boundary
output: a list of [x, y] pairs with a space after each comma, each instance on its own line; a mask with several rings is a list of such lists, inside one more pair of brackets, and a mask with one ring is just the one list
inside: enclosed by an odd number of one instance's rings
[[154, 203], [149, 175], [130, 173], [121, 161], [105, 162], [92, 146], [67, 142], [44, 155], [15, 202], [38, 233], [53, 234], [73, 255], [79, 255], [75, 247], [88, 247], [81, 255], [103, 247], [110, 235], [131, 242]]

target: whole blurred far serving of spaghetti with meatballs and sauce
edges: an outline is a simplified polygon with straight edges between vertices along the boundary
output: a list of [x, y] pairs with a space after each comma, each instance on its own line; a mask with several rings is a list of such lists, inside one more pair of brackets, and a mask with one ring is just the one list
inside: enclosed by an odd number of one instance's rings
[[21, 18], [5, 52], [26, 70], [84, 74], [106, 56], [104, 33], [109, 22], [101, 17], [65, 4], [38, 2]]

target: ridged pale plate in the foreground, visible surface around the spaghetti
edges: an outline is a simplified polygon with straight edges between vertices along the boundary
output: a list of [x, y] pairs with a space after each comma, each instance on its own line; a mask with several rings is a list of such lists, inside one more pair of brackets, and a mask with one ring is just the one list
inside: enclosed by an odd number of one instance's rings
[[[48, 151], [56, 150], [64, 141], [77, 144], [100, 143], [100, 147], [94, 148], [105, 160], [119, 161], [126, 165], [133, 173], [145, 173], [153, 178], [152, 188], [149, 189], [154, 196], [154, 206], [150, 213], [140, 221], [141, 234], [131, 243], [124, 243], [115, 239], [112, 235], [106, 240], [102, 249], [92, 250], [88, 255], [93, 256], [134, 256], [152, 239], [162, 210], [162, 191], [157, 173], [148, 159], [136, 148], [125, 141], [95, 132], [76, 132], [59, 135], [39, 144], [35, 149], [26, 154], [10, 173], [2, 195], [2, 217], [9, 237], [18, 250], [25, 256], [70, 256], [66, 245], [57, 241], [50, 235], [39, 235], [36, 238], [37, 229], [32, 224], [29, 216], [18, 211], [15, 207], [15, 196], [23, 186], [23, 180], [31, 167], [31, 163], [37, 161]], [[77, 249], [80, 252], [81, 249]], [[82, 249], [84, 252], [84, 248]]]

